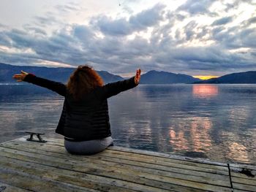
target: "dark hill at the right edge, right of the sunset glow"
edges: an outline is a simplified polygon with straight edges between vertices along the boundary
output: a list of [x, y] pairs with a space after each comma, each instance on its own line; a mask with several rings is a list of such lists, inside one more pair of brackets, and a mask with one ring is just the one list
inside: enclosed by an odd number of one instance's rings
[[226, 74], [222, 77], [211, 78], [209, 80], [203, 80], [194, 82], [195, 84], [200, 83], [230, 83], [230, 84], [250, 84], [256, 83], [256, 72], [240, 72], [233, 74]]

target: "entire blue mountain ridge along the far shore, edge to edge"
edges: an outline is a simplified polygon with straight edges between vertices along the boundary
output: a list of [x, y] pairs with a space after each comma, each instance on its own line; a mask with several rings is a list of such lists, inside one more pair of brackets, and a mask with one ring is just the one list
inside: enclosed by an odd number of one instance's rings
[[[10, 64], [0, 63], [0, 83], [14, 83], [13, 74], [17, 74], [23, 70], [31, 72], [39, 77], [59, 82], [67, 82], [70, 74], [75, 68], [67, 67], [45, 67], [45, 66], [14, 66]], [[97, 71], [105, 83], [124, 80], [123, 77], [110, 74], [105, 71]], [[157, 72], [155, 70], [146, 72], [141, 75], [140, 84], [173, 84], [173, 83], [256, 83], [256, 72], [240, 72], [226, 74], [222, 77], [212, 78], [209, 80], [200, 80], [187, 74], [175, 74], [171, 72]]]

